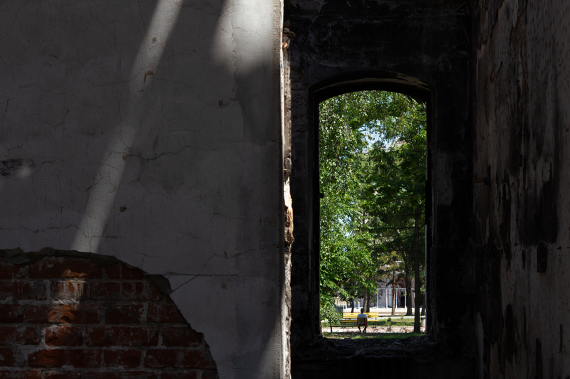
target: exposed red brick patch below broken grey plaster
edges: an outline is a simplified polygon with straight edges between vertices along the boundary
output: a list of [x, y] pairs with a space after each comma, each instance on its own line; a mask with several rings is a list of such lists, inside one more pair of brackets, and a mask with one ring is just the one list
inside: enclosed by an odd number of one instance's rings
[[118, 262], [0, 260], [0, 323], [0, 378], [217, 378], [202, 334]]

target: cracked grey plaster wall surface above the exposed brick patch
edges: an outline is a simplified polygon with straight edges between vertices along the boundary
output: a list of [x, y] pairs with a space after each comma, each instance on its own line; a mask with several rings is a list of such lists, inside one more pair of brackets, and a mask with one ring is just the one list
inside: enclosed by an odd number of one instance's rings
[[281, 4], [2, 1], [0, 249], [170, 281], [220, 378], [284, 373]]

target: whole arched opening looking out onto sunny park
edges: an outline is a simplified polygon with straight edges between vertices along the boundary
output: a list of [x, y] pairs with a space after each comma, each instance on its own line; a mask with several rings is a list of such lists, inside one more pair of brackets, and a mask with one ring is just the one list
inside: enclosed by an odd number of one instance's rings
[[363, 90], [323, 97], [316, 111], [321, 330], [353, 336], [363, 309], [368, 338], [418, 335], [425, 331], [427, 102]]

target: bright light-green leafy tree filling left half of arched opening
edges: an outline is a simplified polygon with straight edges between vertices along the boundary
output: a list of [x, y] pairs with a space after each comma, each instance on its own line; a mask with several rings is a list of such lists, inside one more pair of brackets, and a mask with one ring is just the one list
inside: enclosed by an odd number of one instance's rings
[[[320, 105], [319, 179], [321, 193], [321, 299], [353, 299], [373, 291], [366, 280], [375, 269], [366, 229], [361, 228], [361, 156], [373, 102], [359, 92]], [[367, 112], [368, 110], [368, 112]], [[368, 275], [367, 275], [368, 274]]]

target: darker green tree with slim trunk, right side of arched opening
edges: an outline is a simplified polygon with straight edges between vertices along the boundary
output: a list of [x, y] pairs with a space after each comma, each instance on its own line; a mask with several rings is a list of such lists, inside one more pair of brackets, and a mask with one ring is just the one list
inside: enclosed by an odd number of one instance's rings
[[371, 187], [371, 210], [375, 220], [373, 235], [383, 237], [388, 250], [398, 250], [402, 257], [406, 284], [408, 314], [412, 314], [411, 280], [415, 277], [415, 314], [419, 331], [419, 306], [425, 225], [425, 146], [426, 134], [423, 125], [409, 123], [410, 128], [398, 142], [388, 148], [373, 149], [374, 164], [369, 180]]

